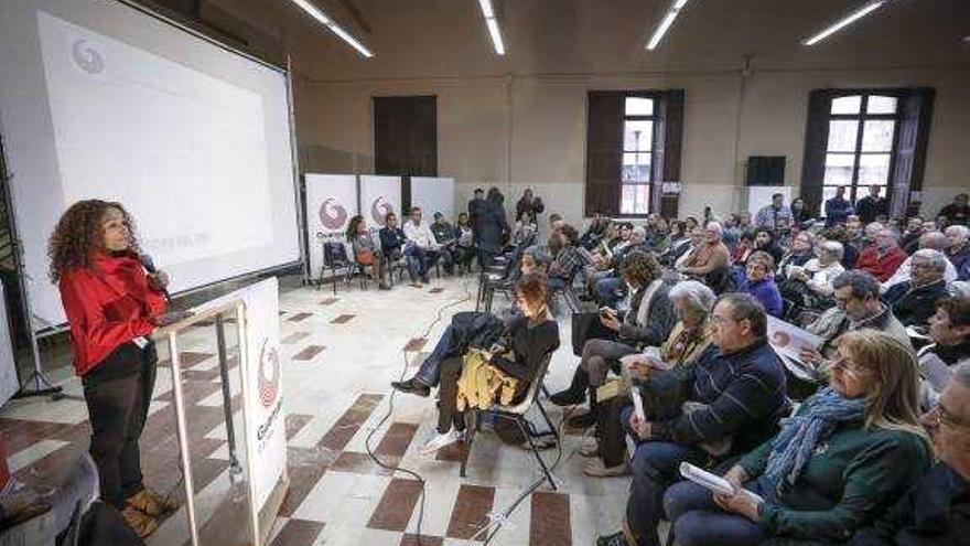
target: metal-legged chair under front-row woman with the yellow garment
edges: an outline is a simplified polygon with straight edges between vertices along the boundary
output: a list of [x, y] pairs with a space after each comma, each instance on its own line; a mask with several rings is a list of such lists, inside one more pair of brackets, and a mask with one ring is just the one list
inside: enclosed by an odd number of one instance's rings
[[[462, 442], [462, 468], [460, 471], [462, 478], [465, 478], [465, 468], [468, 464], [468, 453], [472, 451], [472, 442], [475, 439], [476, 430], [479, 428], [482, 415], [486, 414], [499, 419], [514, 421], [518, 425], [522, 436], [525, 436], [526, 440], [529, 442], [529, 449], [532, 451], [532, 454], [536, 456], [536, 460], [539, 461], [539, 467], [542, 468], [542, 473], [546, 474], [546, 480], [549, 482], [549, 486], [552, 488], [552, 491], [557, 491], [556, 481], [552, 480], [552, 473], [549, 471], [549, 467], [546, 465], [546, 461], [539, 456], [539, 449], [534, 441], [536, 438], [543, 438], [547, 436], [553, 436], [556, 437], [557, 442], [560, 441], [559, 432], [556, 430], [552, 420], [549, 419], [549, 415], [546, 413], [546, 408], [542, 407], [542, 403], [539, 400], [539, 394], [546, 388], [543, 381], [546, 379], [546, 370], [549, 368], [549, 362], [551, 360], [552, 353], [542, 357], [542, 362], [539, 364], [539, 370], [536, 371], [536, 378], [532, 381], [532, 384], [529, 385], [529, 389], [526, 392], [522, 402], [515, 406], [493, 404], [488, 409], [470, 408], [465, 411], [465, 441]], [[549, 430], [539, 432], [536, 430], [535, 425], [526, 419], [526, 414], [532, 406], [539, 408], [539, 413], [546, 420]]]

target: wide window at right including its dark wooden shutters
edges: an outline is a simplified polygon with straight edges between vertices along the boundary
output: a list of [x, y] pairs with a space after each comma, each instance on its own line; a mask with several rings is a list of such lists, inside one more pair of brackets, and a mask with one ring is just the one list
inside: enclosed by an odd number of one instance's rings
[[801, 197], [821, 212], [836, 189], [853, 202], [877, 185], [890, 215], [919, 210], [934, 89], [815, 89], [801, 167]]

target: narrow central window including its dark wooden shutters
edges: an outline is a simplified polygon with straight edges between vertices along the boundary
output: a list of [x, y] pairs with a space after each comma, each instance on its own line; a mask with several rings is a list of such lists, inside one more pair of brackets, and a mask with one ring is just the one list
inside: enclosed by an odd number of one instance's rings
[[682, 89], [589, 92], [585, 214], [676, 216], [682, 135]]

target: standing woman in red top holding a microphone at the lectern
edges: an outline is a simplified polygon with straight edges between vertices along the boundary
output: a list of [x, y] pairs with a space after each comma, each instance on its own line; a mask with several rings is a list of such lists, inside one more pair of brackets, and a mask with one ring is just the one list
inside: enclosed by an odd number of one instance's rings
[[71, 206], [47, 248], [84, 385], [101, 500], [144, 537], [158, 528], [154, 517], [177, 504], [142, 483], [138, 441], [158, 361], [149, 336], [165, 309], [168, 277], [147, 275], [138, 251], [125, 207], [99, 200]]

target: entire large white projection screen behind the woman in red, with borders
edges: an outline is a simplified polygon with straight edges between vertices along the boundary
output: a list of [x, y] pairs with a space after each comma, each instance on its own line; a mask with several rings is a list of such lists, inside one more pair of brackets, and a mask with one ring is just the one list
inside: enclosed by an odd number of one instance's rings
[[0, 130], [35, 330], [46, 239], [119, 201], [180, 292], [301, 259], [285, 74], [117, 0], [0, 2]]

